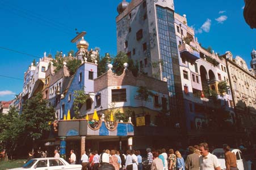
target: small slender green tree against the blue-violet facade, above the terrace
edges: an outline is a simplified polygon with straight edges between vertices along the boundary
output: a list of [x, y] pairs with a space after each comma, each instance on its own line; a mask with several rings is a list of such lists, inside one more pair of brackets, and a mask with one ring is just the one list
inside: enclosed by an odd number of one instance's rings
[[83, 104], [86, 103], [86, 100], [89, 99], [89, 95], [85, 94], [85, 90], [75, 90], [74, 91], [74, 117], [75, 119], [79, 119], [80, 117], [80, 109]]

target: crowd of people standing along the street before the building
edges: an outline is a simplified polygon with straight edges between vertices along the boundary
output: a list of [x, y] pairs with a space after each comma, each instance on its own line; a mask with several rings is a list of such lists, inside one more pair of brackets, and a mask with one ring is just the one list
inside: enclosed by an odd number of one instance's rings
[[[226, 170], [238, 170], [236, 155], [230, 152], [228, 145], [223, 145], [225, 152]], [[186, 160], [182, 158], [181, 153], [173, 149], [146, 149], [147, 159], [142, 165], [142, 156], [140, 150], [127, 150], [126, 154], [117, 150], [103, 150], [101, 154], [98, 151], [92, 151], [89, 155], [86, 151], [82, 152], [81, 164], [82, 170], [221, 170], [217, 157], [209, 152], [207, 143], [189, 146], [189, 154]], [[30, 155], [31, 159], [32, 155]], [[60, 158], [58, 150], [54, 150], [54, 157]], [[70, 164], [76, 164], [77, 158], [74, 150], [70, 151]]]

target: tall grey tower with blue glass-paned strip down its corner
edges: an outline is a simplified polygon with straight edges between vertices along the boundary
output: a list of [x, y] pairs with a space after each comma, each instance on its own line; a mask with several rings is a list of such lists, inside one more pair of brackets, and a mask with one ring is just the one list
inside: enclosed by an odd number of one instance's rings
[[184, 129], [174, 2], [123, 1], [118, 5], [117, 12], [117, 52], [124, 51], [135, 63], [139, 63], [141, 73], [167, 82], [170, 124]]

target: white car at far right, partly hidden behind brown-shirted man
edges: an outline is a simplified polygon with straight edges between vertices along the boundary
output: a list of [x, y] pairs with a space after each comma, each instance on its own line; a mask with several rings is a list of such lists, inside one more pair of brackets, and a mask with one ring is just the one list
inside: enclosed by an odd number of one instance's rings
[[[230, 149], [231, 152], [233, 152], [236, 157], [237, 157], [237, 168], [239, 170], [245, 170], [244, 168], [244, 163], [242, 160], [242, 152], [239, 149]], [[224, 150], [223, 149], [215, 149], [212, 151], [212, 154], [216, 155], [219, 163], [220, 163], [220, 168], [221, 169], [226, 169], [226, 165], [225, 165], [225, 158], [224, 158]]]

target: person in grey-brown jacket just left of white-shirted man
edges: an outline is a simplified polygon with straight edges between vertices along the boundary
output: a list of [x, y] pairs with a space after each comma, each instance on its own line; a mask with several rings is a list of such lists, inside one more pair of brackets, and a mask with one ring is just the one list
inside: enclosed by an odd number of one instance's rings
[[195, 152], [193, 146], [188, 147], [189, 155], [187, 156], [185, 169], [186, 170], [200, 170], [199, 156]]

